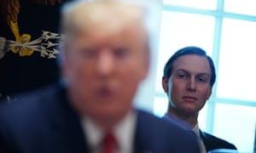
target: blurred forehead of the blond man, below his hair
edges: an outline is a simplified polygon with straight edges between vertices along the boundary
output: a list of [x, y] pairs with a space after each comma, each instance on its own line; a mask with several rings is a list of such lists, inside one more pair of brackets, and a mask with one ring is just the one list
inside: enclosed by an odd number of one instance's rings
[[91, 29], [88, 32], [79, 32], [73, 41], [69, 43], [73, 48], [129, 48], [129, 50], [144, 50], [147, 43], [147, 35], [143, 31], [137, 31], [137, 26], [126, 27], [119, 31], [108, 31], [102, 27]]

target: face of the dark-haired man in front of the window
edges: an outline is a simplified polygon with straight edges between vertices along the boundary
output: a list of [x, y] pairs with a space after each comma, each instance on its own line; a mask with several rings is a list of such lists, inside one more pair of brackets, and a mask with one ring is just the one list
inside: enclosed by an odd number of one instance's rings
[[196, 115], [212, 94], [211, 69], [206, 57], [189, 54], [177, 58], [170, 78], [163, 78], [163, 88], [172, 111]]

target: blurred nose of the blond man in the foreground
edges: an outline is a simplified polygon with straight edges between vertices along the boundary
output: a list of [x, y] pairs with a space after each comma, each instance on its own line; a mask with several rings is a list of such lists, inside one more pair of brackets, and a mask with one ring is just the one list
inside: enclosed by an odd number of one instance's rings
[[113, 54], [108, 48], [101, 50], [98, 61], [97, 61], [97, 71], [102, 75], [108, 75], [109, 72], [113, 70]]

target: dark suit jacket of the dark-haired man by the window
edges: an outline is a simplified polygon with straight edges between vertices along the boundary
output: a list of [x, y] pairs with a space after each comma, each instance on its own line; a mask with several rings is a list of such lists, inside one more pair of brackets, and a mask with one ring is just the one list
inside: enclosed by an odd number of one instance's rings
[[201, 139], [206, 146], [207, 151], [209, 150], [217, 150], [217, 149], [229, 149], [236, 150], [236, 146], [234, 144], [230, 144], [228, 141], [224, 139], [220, 139], [215, 137], [210, 133], [206, 133], [200, 130]]

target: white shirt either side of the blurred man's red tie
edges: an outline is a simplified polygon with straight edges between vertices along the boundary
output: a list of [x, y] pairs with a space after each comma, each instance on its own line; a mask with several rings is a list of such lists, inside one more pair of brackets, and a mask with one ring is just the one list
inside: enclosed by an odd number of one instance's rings
[[[132, 153], [133, 139], [135, 135], [136, 127], [136, 113], [134, 111], [129, 112], [125, 118], [119, 122], [119, 124], [113, 129], [118, 142], [118, 153]], [[85, 133], [85, 138], [89, 144], [92, 153], [101, 153], [101, 141], [104, 131], [101, 127], [98, 127], [90, 118], [83, 118], [82, 125]]]

